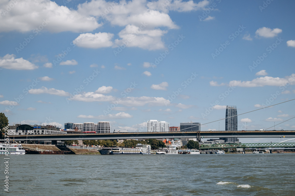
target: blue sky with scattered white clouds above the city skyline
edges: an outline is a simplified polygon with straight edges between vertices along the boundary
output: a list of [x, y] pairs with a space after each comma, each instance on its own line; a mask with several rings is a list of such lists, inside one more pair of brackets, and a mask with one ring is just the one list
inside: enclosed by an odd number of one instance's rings
[[[294, 98], [293, 1], [1, 1], [0, 111], [9, 123], [201, 124]], [[294, 117], [294, 101], [238, 130]], [[276, 130], [294, 130], [294, 119]], [[225, 129], [225, 120], [201, 130]], [[270, 128], [272, 130], [273, 128]], [[276, 141], [279, 139], [240, 139]]]

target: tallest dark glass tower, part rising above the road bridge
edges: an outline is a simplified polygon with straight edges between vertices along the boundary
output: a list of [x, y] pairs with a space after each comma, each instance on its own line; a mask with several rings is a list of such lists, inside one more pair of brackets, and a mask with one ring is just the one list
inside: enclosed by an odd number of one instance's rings
[[225, 130], [238, 130], [237, 106], [227, 105], [225, 111]]

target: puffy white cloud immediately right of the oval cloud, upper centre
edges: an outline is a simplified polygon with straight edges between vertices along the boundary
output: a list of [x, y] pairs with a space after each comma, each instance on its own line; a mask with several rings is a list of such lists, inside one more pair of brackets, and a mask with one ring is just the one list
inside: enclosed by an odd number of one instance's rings
[[148, 50], [158, 50], [165, 48], [162, 42], [162, 36], [168, 31], [161, 29], [144, 29], [141, 30], [135, 25], [127, 25], [125, 29], [119, 32], [120, 39], [115, 40], [115, 45], [119, 47], [128, 43], [126, 47], [139, 47]]

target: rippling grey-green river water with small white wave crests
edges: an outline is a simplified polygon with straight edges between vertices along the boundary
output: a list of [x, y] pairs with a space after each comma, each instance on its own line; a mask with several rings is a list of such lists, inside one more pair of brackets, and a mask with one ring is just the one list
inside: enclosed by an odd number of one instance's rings
[[295, 195], [294, 153], [9, 157], [0, 195]]

